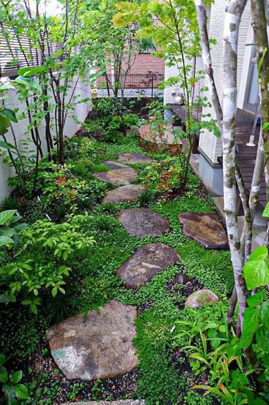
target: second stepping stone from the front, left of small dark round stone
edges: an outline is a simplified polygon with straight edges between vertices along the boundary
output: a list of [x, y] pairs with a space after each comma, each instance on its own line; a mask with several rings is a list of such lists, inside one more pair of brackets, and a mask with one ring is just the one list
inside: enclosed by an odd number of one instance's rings
[[163, 243], [151, 243], [136, 249], [133, 255], [117, 270], [126, 287], [145, 286], [156, 274], [179, 260], [178, 253]]

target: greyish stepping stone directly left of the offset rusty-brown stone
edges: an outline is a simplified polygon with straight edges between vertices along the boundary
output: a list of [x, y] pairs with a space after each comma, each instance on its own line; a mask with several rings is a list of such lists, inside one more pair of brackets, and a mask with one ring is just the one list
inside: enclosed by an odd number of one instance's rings
[[124, 209], [118, 218], [132, 236], [161, 236], [170, 231], [168, 220], [149, 208]]

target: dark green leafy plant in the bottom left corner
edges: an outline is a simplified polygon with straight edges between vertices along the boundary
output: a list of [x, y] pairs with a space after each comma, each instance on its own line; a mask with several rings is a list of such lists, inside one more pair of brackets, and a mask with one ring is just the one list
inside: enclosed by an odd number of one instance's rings
[[21, 384], [23, 377], [22, 371], [15, 371], [13, 374], [8, 375], [5, 364], [5, 356], [0, 353], [0, 384], [2, 385], [2, 392], [4, 402], [7, 405], [19, 404], [20, 400], [29, 398], [28, 389], [24, 384]]

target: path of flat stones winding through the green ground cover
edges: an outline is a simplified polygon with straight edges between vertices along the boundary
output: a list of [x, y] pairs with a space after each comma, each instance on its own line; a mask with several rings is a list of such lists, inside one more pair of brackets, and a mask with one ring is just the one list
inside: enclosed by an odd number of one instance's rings
[[[180, 145], [172, 145], [179, 148]], [[148, 156], [139, 153], [121, 153], [119, 160], [126, 163], [150, 163]], [[94, 176], [120, 187], [108, 191], [102, 203], [134, 201], [145, 192], [140, 184], [131, 184], [137, 172], [120, 162], [105, 161], [110, 168]], [[158, 237], [170, 231], [169, 221], [149, 208], [124, 209], [118, 215], [125, 230], [132, 236]], [[185, 212], [179, 215], [183, 232], [205, 248], [227, 249], [226, 232], [212, 213]], [[134, 251], [117, 270], [127, 288], [145, 286], [156, 274], [175, 264], [179, 254], [163, 243], [151, 243]], [[190, 280], [184, 273], [178, 274], [176, 282], [186, 284]], [[198, 308], [208, 302], [217, 302], [218, 297], [210, 290], [201, 289], [192, 293], [185, 306]], [[138, 365], [136, 349], [132, 340], [136, 336], [137, 311], [131, 305], [111, 301], [98, 311], [87, 316], [80, 314], [68, 318], [47, 330], [52, 356], [67, 379], [92, 380], [113, 378], [129, 373]], [[96, 403], [77, 402], [63, 405], [145, 405], [145, 401], [103, 401]]]

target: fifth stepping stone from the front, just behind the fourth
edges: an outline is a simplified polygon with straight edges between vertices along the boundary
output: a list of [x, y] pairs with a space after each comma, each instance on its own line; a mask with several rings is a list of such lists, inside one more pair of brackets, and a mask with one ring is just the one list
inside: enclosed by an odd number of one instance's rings
[[112, 183], [117, 186], [131, 184], [137, 179], [136, 171], [127, 166], [126, 169], [112, 169], [108, 172], [99, 172], [93, 175], [106, 183]]

